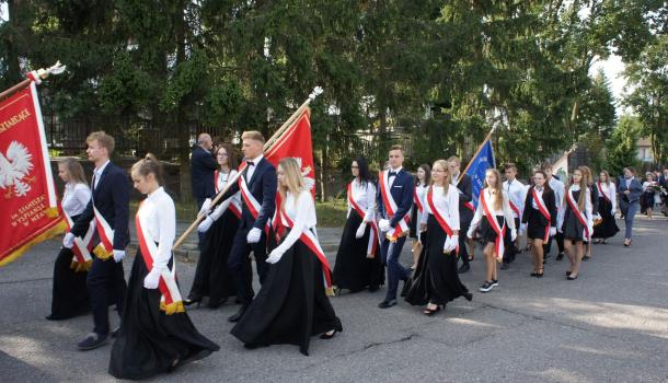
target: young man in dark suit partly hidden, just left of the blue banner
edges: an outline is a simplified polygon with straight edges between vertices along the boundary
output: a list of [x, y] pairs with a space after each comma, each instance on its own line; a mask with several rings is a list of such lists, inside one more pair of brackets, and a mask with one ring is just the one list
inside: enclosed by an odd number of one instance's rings
[[[459, 190], [459, 231], [465, 233], [469, 231], [471, 221], [473, 221], [473, 213], [475, 208], [473, 207], [473, 185], [471, 183], [471, 176], [468, 174], [461, 174], [461, 161], [458, 156], [452, 155], [448, 159], [448, 166], [450, 174], [452, 175], [452, 186]], [[471, 242], [471, 246], [473, 243]], [[462, 260], [462, 265], [459, 268], [459, 272], [467, 272], [471, 269], [469, 265], [469, 251], [467, 249], [467, 235], [459, 236], [459, 257]]]

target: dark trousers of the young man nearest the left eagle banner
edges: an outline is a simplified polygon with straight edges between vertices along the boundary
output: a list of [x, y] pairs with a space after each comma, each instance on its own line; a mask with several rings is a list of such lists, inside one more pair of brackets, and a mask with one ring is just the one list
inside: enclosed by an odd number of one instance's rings
[[123, 262], [114, 258], [100, 260], [93, 257], [93, 265], [85, 280], [91, 305], [93, 306], [94, 332], [106, 335], [110, 332], [110, 302], [116, 303], [118, 315], [123, 314], [127, 283], [123, 274]]

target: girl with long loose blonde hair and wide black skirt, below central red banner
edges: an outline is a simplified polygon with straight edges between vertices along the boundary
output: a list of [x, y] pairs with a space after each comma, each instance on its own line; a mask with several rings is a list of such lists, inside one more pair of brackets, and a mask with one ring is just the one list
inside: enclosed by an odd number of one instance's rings
[[343, 327], [325, 295], [330, 266], [315, 233], [313, 196], [295, 159], [280, 160], [276, 175], [283, 241], [267, 257], [267, 277], [231, 333], [246, 348], [289, 344], [309, 355], [311, 336], [330, 339]]

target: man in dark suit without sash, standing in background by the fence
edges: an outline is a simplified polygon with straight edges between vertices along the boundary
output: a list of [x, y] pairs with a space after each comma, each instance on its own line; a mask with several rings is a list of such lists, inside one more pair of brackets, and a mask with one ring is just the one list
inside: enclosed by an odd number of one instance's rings
[[[214, 149], [211, 136], [199, 134], [197, 136], [197, 144], [193, 147], [193, 154], [191, 156], [191, 184], [193, 186], [193, 198], [195, 198], [197, 209], [200, 212], [206, 211], [208, 208], [205, 207], [203, 209], [204, 201], [216, 195], [214, 174], [218, 170], [218, 164], [211, 153], [211, 149]], [[201, 248], [204, 233], [197, 232], [197, 236], [199, 237], [199, 247]]]

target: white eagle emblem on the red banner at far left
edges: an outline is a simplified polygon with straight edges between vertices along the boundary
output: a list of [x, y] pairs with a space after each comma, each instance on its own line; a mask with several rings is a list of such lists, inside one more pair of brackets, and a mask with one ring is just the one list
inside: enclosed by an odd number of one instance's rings
[[22, 197], [31, 190], [30, 182], [33, 182], [34, 177], [30, 178], [27, 175], [34, 167], [32, 158], [25, 146], [18, 141], [9, 144], [7, 156], [0, 151], [0, 187], [8, 189], [5, 198], [11, 198], [12, 194]]

